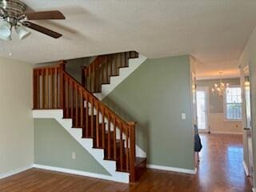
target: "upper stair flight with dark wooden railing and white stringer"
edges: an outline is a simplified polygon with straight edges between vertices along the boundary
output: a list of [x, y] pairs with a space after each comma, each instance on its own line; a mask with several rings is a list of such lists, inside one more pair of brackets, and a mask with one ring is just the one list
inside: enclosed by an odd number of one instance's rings
[[102, 100], [145, 61], [135, 51], [100, 55], [82, 68], [82, 85]]

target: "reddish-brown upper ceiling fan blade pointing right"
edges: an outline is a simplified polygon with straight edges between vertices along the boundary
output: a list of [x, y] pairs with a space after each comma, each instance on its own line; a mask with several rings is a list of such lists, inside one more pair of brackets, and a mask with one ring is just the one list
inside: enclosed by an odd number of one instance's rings
[[41, 11], [25, 14], [26, 20], [65, 19], [59, 10]]

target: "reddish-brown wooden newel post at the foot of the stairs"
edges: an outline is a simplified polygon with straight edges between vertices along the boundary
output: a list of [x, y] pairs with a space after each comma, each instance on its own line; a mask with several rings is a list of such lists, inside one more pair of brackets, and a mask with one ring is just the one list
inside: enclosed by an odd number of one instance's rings
[[128, 122], [129, 126], [129, 136], [130, 136], [130, 182], [135, 182], [135, 161], [136, 161], [136, 152], [135, 152], [135, 125], [136, 122]]

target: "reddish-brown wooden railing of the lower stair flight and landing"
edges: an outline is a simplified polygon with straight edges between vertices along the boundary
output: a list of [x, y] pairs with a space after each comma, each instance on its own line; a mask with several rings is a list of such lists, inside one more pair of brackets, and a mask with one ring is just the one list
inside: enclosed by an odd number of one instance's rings
[[83, 138], [93, 138], [104, 149], [105, 159], [117, 162], [117, 170], [135, 181], [135, 123], [125, 122], [65, 71], [65, 62], [35, 68], [34, 110], [63, 109], [82, 128]]

